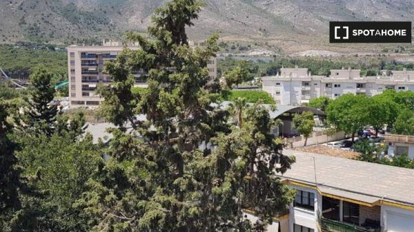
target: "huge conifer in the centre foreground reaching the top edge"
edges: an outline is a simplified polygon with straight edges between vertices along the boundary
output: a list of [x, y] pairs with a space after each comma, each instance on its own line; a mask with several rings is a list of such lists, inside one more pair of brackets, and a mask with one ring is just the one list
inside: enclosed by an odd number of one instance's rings
[[[106, 65], [113, 83], [99, 88], [101, 109], [121, 129], [112, 129], [111, 158], [77, 204], [94, 231], [263, 231], [292, 199], [273, 175], [293, 160], [270, 134], [267, 110], [246, 107], [238, 127], [221, 109], [221, 87], [210, 84], [206, 67], [217, 35], [202, 48], [188, 45], [186, 27], [202, 6], [166, 3], [152, 17], [149, 39], [128, 35], [141, 49], [126, 49]], [[131, 70], [148, 73], [148, 89], [131, 92]], [[134, 130], [125, 134], [130, 125]], [[244, 208], [254, 209], [262, 224], [250, 225]]]

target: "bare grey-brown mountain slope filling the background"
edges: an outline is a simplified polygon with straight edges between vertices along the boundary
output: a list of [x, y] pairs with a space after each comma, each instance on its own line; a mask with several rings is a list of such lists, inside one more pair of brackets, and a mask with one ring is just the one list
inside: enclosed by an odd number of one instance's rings
[[[219, 30], [227, 41], [344, 50], [328, 44], [329, 21], [413, 21], [412, 0], [206, 0], [191, 39]], [[144, 32], [166, 0], [2, 0], [0, 42], [81, 43]], [[369, 46], [368, 46], [369, 47]], [[375, 47], [375, 46], [371, 46]], [[370, 47], [370, 48], [371, 48]], [[359, 49], [356, 46], [353, 48]]]

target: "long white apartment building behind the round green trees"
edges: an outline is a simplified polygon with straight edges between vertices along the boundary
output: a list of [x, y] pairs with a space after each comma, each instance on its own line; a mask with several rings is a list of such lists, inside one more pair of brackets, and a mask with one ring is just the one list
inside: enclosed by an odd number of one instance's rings
[[361, 76], [361, 70], [331, 70], [330, 76], [313, 76], [307, 68], [282, 68], [276, 76], [262, 78], [262, 88], [277, 104], [301, 105], [312, 98], [337, 98], [342, 94], [374, 96], [385, 89], [414, 90], [414, 71], [392, 71], [391, 76]]

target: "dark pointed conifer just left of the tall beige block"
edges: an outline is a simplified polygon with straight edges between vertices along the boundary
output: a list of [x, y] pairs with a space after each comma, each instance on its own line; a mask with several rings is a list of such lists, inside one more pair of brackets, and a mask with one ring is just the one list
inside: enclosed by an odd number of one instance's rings
[[42, 132], [52, 136], [56, 117], [57, 107], [51, 105], [55, 97], [55, 86], [52, 85], [53, 74], [45, 67], [39, 67], [30, 76], [30, 98], [26, 98], [28, 109], [23, 116], [23, 127], [28, 131]]

